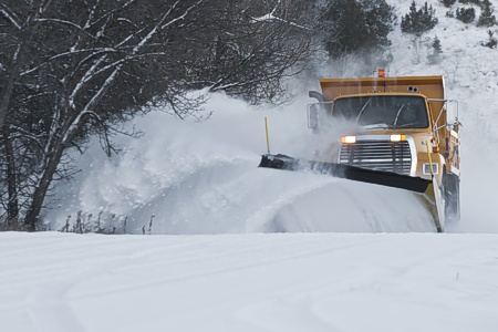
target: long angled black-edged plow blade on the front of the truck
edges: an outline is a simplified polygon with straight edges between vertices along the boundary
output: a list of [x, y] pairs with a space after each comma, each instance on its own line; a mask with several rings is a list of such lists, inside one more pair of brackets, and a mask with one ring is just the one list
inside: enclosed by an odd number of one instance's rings
[[263, 155], [258, 167], [276, 168], [284, 170], [312, 172], [330, 175], [333, 177], [387, 186], [398, 189], [414, 191], [417, 198], [430, 212], [438, 232], [443, 231], [444, 215], [439, 189], [434, 190], [437, 185], [433, 180], [421, 177], [401, 175], [391, 172], [366, 169], [344, 164], [323, 163], [293, 158], [286, 155]]

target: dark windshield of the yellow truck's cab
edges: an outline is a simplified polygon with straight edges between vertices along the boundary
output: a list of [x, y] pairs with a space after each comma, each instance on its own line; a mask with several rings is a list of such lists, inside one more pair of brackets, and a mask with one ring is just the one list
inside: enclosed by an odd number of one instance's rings
[[427, 110], [421, 96], [370, 95], [334, 102], [332, 117], [357, 126], [426, 128]]

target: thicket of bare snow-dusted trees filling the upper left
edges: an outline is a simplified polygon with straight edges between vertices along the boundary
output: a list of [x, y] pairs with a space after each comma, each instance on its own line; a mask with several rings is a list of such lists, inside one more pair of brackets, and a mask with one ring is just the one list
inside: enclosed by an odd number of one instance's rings
[[0, 3], [1, 204], [35, 230], [70, 148], [144, 106], [198, 110], [188, 91], [227, 91], [258, 103], [302, 70], [311, 30], [295, 1], [7, 0]]

